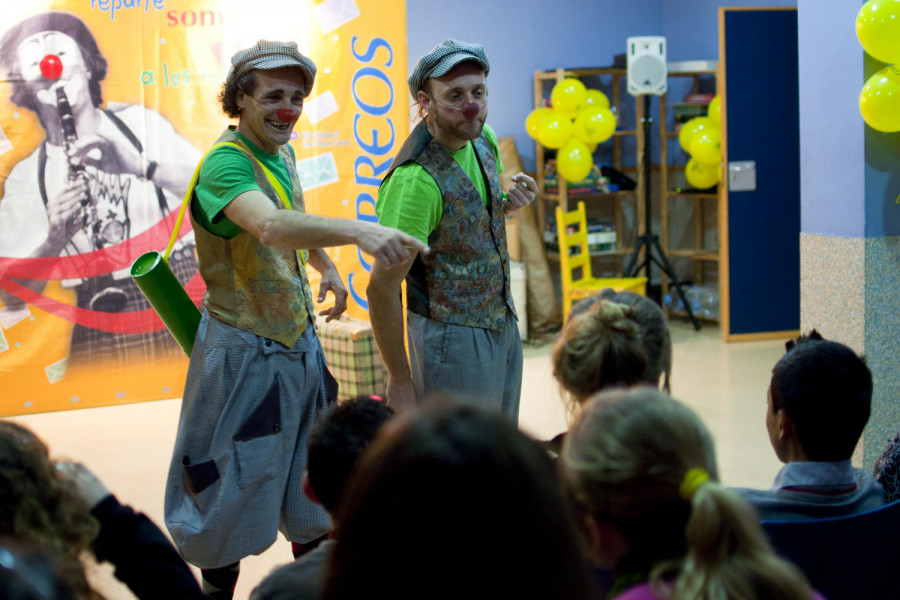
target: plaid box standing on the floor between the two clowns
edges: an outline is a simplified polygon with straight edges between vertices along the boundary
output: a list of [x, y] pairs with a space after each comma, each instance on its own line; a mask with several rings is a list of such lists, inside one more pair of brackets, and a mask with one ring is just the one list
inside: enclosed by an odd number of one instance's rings
[[385, 396], [387, 369], [375, 347], [371, 323], [348, 316], [326, 323], [317, 315], [316, 328], [328, 368], [340, 385], [338, 400], [361, 394]]

